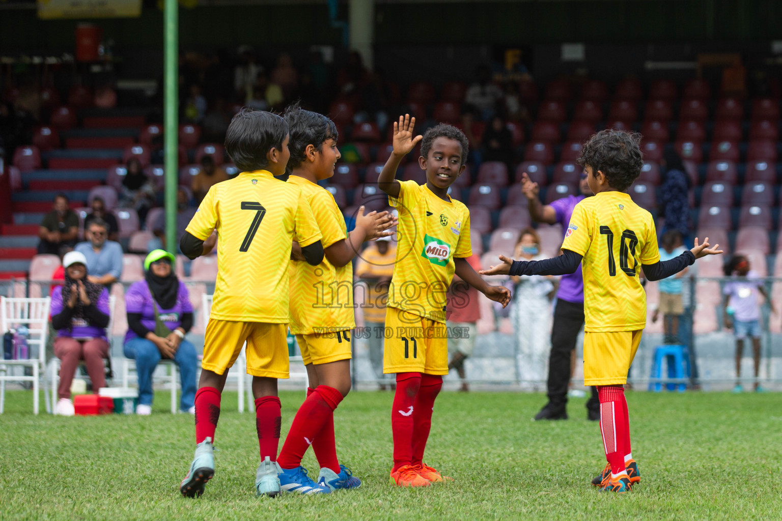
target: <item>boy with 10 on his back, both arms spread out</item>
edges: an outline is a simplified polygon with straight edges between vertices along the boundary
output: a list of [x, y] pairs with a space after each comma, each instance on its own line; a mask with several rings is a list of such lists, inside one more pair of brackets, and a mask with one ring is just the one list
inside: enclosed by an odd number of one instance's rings
[[584, 384], [596, 385], [600, 426], [608, 464], [592, 480], [603, 491], [627, 492], [640, 481], [630, 449], [630, 419], [623, 384], [633, 363], [641, 330], [646, 327], [646, 294], [638, 272], [660, 280], [705, 255], [718, 255], [719, 244], [703, 244], [660, 262], [655, 221], [625, 191], [644, 166], [639, 134], [602, 130], [583, 146], [579, 164], [587, 172], [594, 197], [573, 210], [562, 255], [541, 261], [514, 261], [481, 271], [486, 275], [564, 275], [579, 264], [584, 280]]

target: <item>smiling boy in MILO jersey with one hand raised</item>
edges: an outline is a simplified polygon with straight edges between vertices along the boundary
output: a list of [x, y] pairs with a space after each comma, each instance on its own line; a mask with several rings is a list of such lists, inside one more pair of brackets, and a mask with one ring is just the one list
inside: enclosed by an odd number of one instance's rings
[[[472, 255], [470, 212], [448, 195], [448, 187], [465, 171], [465, 134], [440, 124], [415, 136], [414, 126], [415, 118], [407, 114], [393, 123], [393, 153], [378, 179], [399, 212], [386, 308], [386, 331], [392, 334], [386, 336], [383, 370], [396, 373], [391, 483], [400, 487], [443, 480], [423, 457], [434, 401], [448, 374], [446, 302], [454, 273], [503, 307], [511, 301], [508, 289], [486, 284], [467, 262]], [[401, 160], [419, 141], [418, 164], [426, 170], [426, 184], [395, 180]]]

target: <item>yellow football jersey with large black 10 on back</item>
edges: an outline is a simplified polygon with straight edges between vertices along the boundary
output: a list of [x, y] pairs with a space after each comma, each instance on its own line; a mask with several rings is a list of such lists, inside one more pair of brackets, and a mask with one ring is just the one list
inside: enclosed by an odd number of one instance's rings
[[641, 264], [660, 260], [651, 213], [619, 191], [600, 192], [576, 205], [562, 249], [583, 255], [584, 330], [634, 331], [646, 327]]

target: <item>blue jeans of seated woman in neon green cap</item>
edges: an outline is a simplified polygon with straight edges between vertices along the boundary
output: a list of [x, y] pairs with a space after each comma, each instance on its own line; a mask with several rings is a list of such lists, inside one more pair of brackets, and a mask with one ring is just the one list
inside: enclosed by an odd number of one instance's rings
[[[125, 357], [136, 361], [138, 403], [152, 405], [152, 373], [155, 372], [157, 362], [160, 362], [160, 351], [152, 341], [146, 338], [134, 338], [125, 343], [124, 353]], [[174, 355], [174, 363], [179, 367], [182, 385], [179, 409], [187, 411], [195, 404], [195, 369], [198, 366], [198, 359], [193, 344], [183, 340]]]

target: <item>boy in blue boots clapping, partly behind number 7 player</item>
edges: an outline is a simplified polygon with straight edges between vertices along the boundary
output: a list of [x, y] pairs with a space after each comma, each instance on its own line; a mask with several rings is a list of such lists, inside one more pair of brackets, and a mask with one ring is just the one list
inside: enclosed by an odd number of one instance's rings
[[[353, 265], [361, 243], [384, 237], [395, 224], [389, 212], [364, 215], [362, 206], [356, 227], [346, 233], [345, 219], [334, 196], [317, 181], [334, 175], [339, 159], [337, 128], [317, 112], [292, 105], [285, 111], [290, 131], [291, 157], [288, 184], [300, 187], [321, 230], [325, 259], [317, 266], [302, 260], [291, 262], [290, 328], [296, 334], [310, 387], [285, 437], [277, 462], [283, 491], [308, 493], [316, 489], [301, 466], [312, 445], [321, 466], [317, 484], [332, 491], [356, 488], [361, 480], [340, 465], [334, 441], [334, 409], [350, 391], [350, 330], [353, 316]], [[294, 245], [296, 255], [298, 249]]]

